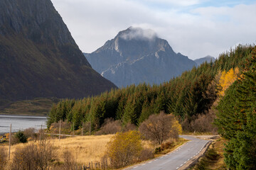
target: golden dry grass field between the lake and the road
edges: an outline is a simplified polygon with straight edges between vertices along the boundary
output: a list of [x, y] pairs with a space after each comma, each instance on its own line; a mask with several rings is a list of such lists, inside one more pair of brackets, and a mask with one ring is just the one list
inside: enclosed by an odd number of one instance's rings
[[[91, 135], [91, 136], [79, 136], [79, 137], [65, 137], [60, 140], [50, 136], [47, 137], [48, 140], [44, 142], [46, 145], [51, 145], [53, 147], [52, 150], [54, 152], [55, 161], [51, 166], [55, 166], [56, 164], [64, 164], [65, 160], [68, 158], [72, 159], [74, 164], [80, 165], [88, 165], [90, 163], [102, 162], [102, 157], [104, 157], [105, 152], [107, 151], [107, 143], [114, 137], [114, 135]], [[170, 152], [175, 149], [179, 145], [182, 145], [186, 142], [183, 139], [180, 139], [174, 143], [174, 146], [171, 148], [166, 148], [161, 152], [153, 154], [153, 157], [159, 157], [162, 154], [166, 154], [166, 152]], [[28, 148], [31, 145], [40, 145], [40, 141], [29, 141], [27, 143], [20, 143], [11, 146], [11, 159], [6, 164], [6, 169], [11, 169], [12, 160], [14, 160], [14, 152], [16, 149]], [[142, 140], [142, 146], [144, 149], [148, 149], [154, 151], [156, 147], [159, 145], [153, 145], [151, 142]], [[9, 146], [8, 144], [4, 144], [0, 147], [4, 147], [8, 153]], [[1, 148], [0, 148], [1, 149]], [[67, 151], [71, 154], [70, 157], [63, 156], [67, 153]], [[26, 152], [26, 151], [25, 151]], [[7, 154], [8, 155], [8, 154]], [[69, 154], [68, 154], [69, 155]], [[147, 158], [149, 159], [149, 158]], [[146, 160], [146, 159], [145, 159]], [[60, 168], [61, 169], [61, 168]]]

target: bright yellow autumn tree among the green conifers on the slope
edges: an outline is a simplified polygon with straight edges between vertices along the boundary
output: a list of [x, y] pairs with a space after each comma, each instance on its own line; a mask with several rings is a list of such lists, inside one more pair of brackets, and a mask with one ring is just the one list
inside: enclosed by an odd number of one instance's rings
[[238, 67], [235, 70], [232, 68], [228, 72], [221, 72], [219, 84], [218, 84], [218, 95], [224, 96], [225, 90], [233, 84], [233, 82], [238, 79], [239, 69]]

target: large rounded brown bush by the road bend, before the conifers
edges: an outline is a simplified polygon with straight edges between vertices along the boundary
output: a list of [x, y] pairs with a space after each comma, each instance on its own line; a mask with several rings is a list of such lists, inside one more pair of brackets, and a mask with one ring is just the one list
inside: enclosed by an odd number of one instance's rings
[[159, 115], [150, 115], [149, 119], [145, 120], [139, 126], [139, 132], [148, 140], [152, 140], [159, 145], [170, 137], [178, 138], [178, 133], [181, 132], [181, 125], [174, 118], [174, 115], [166, 115], [161, 112]]

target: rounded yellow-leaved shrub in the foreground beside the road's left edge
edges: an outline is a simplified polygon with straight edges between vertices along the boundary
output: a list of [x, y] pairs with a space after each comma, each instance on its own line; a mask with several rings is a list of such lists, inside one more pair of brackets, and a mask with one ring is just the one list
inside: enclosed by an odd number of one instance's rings
[[121, 168], [137, 161], [142, 152], [139, 132], [117, 132], [107, 145], [107, 155], [114, 168]]

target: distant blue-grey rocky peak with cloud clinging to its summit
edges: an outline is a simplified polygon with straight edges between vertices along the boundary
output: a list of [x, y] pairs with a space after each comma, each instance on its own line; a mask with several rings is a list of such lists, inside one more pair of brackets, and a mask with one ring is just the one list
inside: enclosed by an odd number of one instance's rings
[[91, 54], [84, 54], [92, 68], [117, 86], [146, 82], [161, 84], [196, 66], [176, 54], [152, 30], [128, 28]]

